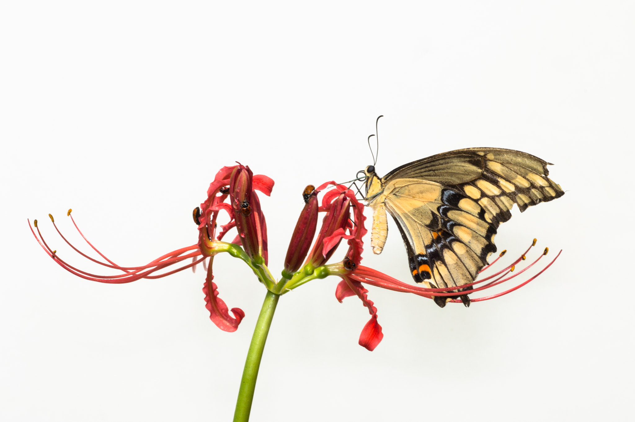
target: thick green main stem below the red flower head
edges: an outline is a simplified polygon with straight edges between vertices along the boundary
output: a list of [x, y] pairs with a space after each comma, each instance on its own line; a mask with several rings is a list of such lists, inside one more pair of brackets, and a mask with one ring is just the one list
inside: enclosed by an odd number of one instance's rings
[[274, 312], [276, 312], [279, 298], [279, 294], [267, 291], [267, 296], [265, 296], [265, 301], [262, 304], [258, 322], [256, 322], [256, 328], [253, 330], [253, 337], [251, 337], [247, 359], [244, 362], [243, 379], [241, 379], [240, 390], [238, 391], [234, 422], [249, 421], [253, 392], [256, 389], [256, 379], [260, 368], [260, 359], [262, 359], [262, 351], [265, 348], [267, 334], [269, 334], [269, 327], [274, 319]]

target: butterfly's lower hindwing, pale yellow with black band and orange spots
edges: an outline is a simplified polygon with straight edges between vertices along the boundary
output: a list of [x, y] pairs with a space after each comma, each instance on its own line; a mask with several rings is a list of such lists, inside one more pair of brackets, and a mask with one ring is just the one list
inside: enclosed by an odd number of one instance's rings
[[432, 288], [471, 283], [496, 250], [496, 227], [483, 220], [485, 210], [462, 192], [430, 181], [399, 179], [384, 193], [415, 281]]

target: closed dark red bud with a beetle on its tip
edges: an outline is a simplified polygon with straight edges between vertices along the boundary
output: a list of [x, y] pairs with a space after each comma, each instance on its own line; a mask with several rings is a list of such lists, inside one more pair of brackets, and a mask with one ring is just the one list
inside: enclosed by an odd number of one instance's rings
[[300, 213], [298, 222], [295, 224], [289, 249], [287, 249], [286, 258], [284, 258], [282, 275], [286, 279], [291, 279], [293, 273], [302, 265], [318, 226], [318, 193], [314, 190], [314, 187], [309, 185], [305, 188], [302, 195], [306, 204]]

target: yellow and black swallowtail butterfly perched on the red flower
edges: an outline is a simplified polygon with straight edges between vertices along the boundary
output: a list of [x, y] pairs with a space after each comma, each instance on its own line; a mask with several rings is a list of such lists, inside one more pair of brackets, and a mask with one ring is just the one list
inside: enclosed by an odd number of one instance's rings
[[504, 148], [465, 148], [409, 162], [380, 178], [364, 169], [365, 200], [373, 209], [371, 247], [382, 253], [386, 211], [399, 227], [415, 282], [430, 288], [457, 287], [457, 296], [434, 296], [439, 307], [460, 297], [496, 252], [500, 223], [565, 194], [549, 177], [551, 164], [526, 152]]

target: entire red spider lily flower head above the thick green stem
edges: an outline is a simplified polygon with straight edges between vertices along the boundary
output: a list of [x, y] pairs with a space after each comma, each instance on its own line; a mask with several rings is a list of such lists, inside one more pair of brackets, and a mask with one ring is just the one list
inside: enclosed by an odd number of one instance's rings
[[[72, 210], [69, 209], [67, 215], [70, 216], [77, 231], [84, 237], [88, 245], [101, 256], [102, 260], [91, 258], [67, 241], [58, 230], [57, 225], [55, 225], [53, 216], [49, 214], [55, 230], [74, 251], [88, 260], [122, 273], [117, 275], [90, 274], [67, 263], [67, 261], [58, 256], [57, 251], [51, 249], [44, 241], [44, 237], [37, 226], [37, 220], [34, 221], [37, 235], [33, 228], [31, 228], [31, 232], [44, 251], [62, 268], [84, 279], [98, 282], [120, 284], [138, 279], [156, 279], [186, 268], [194, 269], [198, 263], [202, 263], [203, 268], [206, 270], [203, 286], [205, 306], [210, 312], [210, 319], [224, 331], [236, 331], [244, 318], [244, 312], [240, 308], [229, 310], [225, 302], [218, 298], [218, 286], [213, 282], [212, 267], [214, 256], [223, 252], [243, 260], [257, 275], [260, 282], [269, 291], [277, 295], [285, 294], [313, 279], [324, 279], [329, 275], [340, 277], [341, 281], [335, 290], [337, 300], [341, 302], [348, 296], [358, 296], [371, 315], [371, 319], [366, 323], [359, 336], [359, 345], [364, 346], [368, 350], [373, 350], [377, 347], [384, 334], [382, 333], [382, 327], [377, 322], [377, 308], [373, 301], [368, 299], [368, 290], [364, 287], [365, 284], [383, 287], [392, 291], [413, 293], [429, 299], [433, 299], [435, 296], [457, 296], [457, 291], [453, 291], [451, 288], [431, 289], [412, 286], [377, 270], [360, 265], [364, 251], [363, 237], [368, 231], [365, 228], [364, 206], [356, 199], [352, 190], [334, 181], [326, 182], [318, 188], [312, 185], [305, 188], [303, 193], [305, 206], [300, 212], [295, 230], [291, 236], [284, 260], [282, 277], [276, 280], [267, 267], [267, 224], [256, 193], [256, 190], [258, 190], [262, 194], [271, 195], [273, 186], [274, 181], [271, 178], [264, 175], [253, 175], [251, 169], [242, 164], [220, 169], [208, 188], [207, 199], [200, 207], [195, 208], [193, 212], [194, 221], [199, 230], [197, 244], [171, 251], [156, 260], [150, 261], [147, 265], [138, 267], [119, 266], [98, 251], [81, 233], [71, 215]], [[318, 201], [318, 194], [323, 194], [321, 202]], [[220, 225], [220, 230], [218, 230], [217, 218], [222, 211], [229, 216], [229, 222], [225, 225]], [[324, 218], [318, 230], [319, 213], [324, 213]], [[222, 239], [232, 228], [236, 228], [236, 237], [234, 237], [232, 242], [224, 242]], [[347, 241], [347, 252], [341, 261], [328, 264], [328, 261], [343, 240]], [[545, 248], [544, 253], [537, 260], [510, 275], [515, 270], [516, 265], [526, 259], [526, 254], [533, 246], [535, 246], [535, 239], [527, 251], [507, 267], [495, 274], [461, 287], [471, 287], [469, 294], [473, 294], [517, 277], [547, 254], [548, 248]], [[504, 254], [505, 251], [500, 253], [500, 256], [491, 265]], [[524, 286], [549, 268], [558, 256], [542, 268], [538, 274], [533, 275], [533, 277], [518, 286], [502, 293], [474, 298], [471, 301], [489, 300]], [[170, 270], [173, 265], [183, 263], [190, 258], [192, 260], [190, 263]], [[481, 272], [488, 270], [491, 265], [483, 268]], [[157, 274], [157, 272], [165, 268], [168, 268], [168, 271]], [[462, 303], [462, 300], [453, 298], [450, 302]]]

